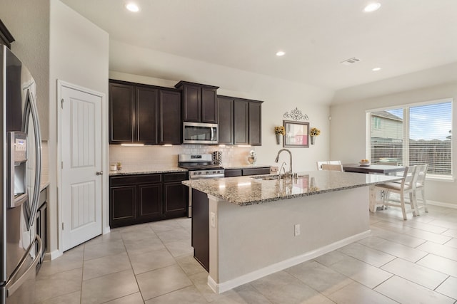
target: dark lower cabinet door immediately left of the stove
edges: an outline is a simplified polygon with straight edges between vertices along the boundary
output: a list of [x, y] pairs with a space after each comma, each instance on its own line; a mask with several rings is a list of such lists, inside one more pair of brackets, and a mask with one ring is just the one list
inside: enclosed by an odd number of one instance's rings
[[164, 208], [166, 218], [187, 216], [189, 188], [181, 182], [164, 184]]

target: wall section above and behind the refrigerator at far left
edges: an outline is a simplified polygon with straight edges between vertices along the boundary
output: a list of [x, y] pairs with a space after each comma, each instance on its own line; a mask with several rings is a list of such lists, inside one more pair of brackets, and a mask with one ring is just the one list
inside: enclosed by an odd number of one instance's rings
[[0, 19], [13, 35], [11, 51], [36, 81], [41, 138], [49, 134], [49, 0], [1, 0]]

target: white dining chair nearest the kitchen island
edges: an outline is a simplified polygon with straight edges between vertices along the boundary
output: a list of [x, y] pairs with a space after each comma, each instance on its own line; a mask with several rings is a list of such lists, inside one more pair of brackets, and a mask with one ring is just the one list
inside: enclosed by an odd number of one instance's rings
[[[401, 182], [386, 182], [371, 187], [370, 211], [376, 212], [376, 206], [381, 204], [382, 206], [400, 207], [403, 214], [403, 220], [408, 219], [406, 217], [406, 212], [412, 212], [413, 216], [418, 215], [416, 202], [417, 174], [417, 166], [405, 167]], [[383, 192], [381, 201], [376, 200], [376, 192], [378, 191]], [[398, 194], [400, 199], [396, 199], [392, 194]], [[406, 195], [408, 195], [409, 200], [405, 199]], [[411, 208], [406, 210], [406, 204], [409, 204]]]

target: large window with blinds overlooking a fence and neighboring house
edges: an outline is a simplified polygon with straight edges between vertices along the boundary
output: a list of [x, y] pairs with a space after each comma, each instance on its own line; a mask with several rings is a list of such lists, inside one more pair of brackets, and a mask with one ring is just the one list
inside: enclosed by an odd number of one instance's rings
[[452, 100], [368, 111], [371, 163], [428, 164], [428, 174], [452, 175]]

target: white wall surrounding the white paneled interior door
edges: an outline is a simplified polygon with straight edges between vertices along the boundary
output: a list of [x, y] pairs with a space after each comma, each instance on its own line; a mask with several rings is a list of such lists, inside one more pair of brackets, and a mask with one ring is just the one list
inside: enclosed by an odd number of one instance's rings
[[[59, 0], [51, 0], [49, 60], [49, 178], [51, 204], [49, 204], [50, 251], [58, 248], [57, 151], [57, 80], [64, 80], [108, 96], [109, 36], [108, 33], [69, 9]], [[107, 99], [106, 99], [107, 102]], [[107, 107], [104, 113], [107, 125]], [[108, 137], [105, 137], [106, 141]], [[105, 145], [106, 155], [108, 146]], [[108, 157], [104, 159], [107, 168]], [[105, 169], [105, 172], [108, 170]], [[104, 217], [108, 219], [108, 176], [104, 176]], [[107, 224], [106, 224], [107, 226]], [[106, 228], [106, 227], [105, 227]]]

